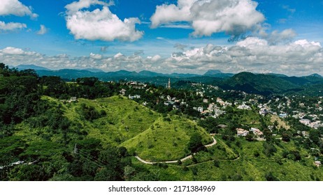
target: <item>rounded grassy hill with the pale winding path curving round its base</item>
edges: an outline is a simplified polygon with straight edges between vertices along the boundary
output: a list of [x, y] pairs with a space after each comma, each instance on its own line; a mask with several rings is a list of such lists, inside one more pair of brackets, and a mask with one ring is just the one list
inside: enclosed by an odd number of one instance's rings
[[120, 146], [151, 162], [176, 160], [189, 155], [187, 144], [194, 132], [202, 136], [204, 145], [212, 142], [210, 135], [191, 120], [180, 116], [162, 117], [157, 119], [148, 130]]

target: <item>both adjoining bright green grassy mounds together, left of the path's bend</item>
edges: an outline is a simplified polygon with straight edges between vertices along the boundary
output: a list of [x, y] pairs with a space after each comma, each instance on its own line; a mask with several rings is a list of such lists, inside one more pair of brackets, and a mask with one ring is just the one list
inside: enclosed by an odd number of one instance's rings
[[[124, 97], [60, 102], [44, 96], [43, 100], [49, 102], [53, 110], [55, 107], [61, 107], [64, 116], [71, 121], [68, 137], [72, 142], [79, 139], [80, 134], [87, 135], [88, 139], [100, 139], [103, 148], [125, 146], [131, 154], [137, 153], [150, 161], [185, 157], [190, 153], [187, 143], [194, 132], [201, 135], [204, 144], [212, 142], [210, 135], [192, 120], [182, 116], [163, 117]], [[87, 120], [82, 107], [92, 107], [94, 112], [103, 115]], [[62, 135], [50, 134], [48, 127], [30, 128], [29, 123], [22, 123], [17, 127], [19, 131], [16, 135], [30, 143], [36, 143], [46, 137], [50, 137], [48, 141], [63, 142]]]

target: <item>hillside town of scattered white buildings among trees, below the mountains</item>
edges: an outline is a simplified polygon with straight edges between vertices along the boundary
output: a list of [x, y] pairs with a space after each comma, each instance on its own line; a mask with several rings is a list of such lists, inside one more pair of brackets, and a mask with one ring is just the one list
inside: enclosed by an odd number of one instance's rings
[[[129, 91], [136, 89], [138, 94], [129, 94], [126, 89], [122, 88], [120, 95], [127, 94], [129, 99], [141, 102], [144, 106], [155, 104], [155, 106], [164, 107], [168, 111], [184, 111], [184, 113], [189, 110], [191, 112], [186, 114], [194, 116], [196, 120], [225, 116], [230, 107], [241, 111], [252, 111], [262, 117], [276, 116], [281, 121], [285, 121], [282, 123], [287, 123], [285, 119], [292, 117], [299, 123], [315, 130], [323, 127], [322, 97], [273, 96], [268, 99], [262, 95], [247, 94], [243, 91], [222, 91], [217, 86], [199, 83], [193, 83], [188, 87], [189, 95], [178, 94], [176, 96], [170, 93], [171, 79], [168, 80], [165, 90], [159, 91], [158, 95], [150, 86], [141, 82], [129, 81], [124, 83], [124, 86], [127, 86]], [[153, 100], [151, 96], [156, 100]], [[273, 125], [268, 125], [267, 128], [273, 132]], [[255, 138], [261, 140], [259, 138], [264, 137], [263, 131], [257, 125], [250, 125], [247, 129], [237, 127], [236, 136], [246, 137], [251, 132]], [[309, 134], [301, 130], [299, 135], [308, 137]]]

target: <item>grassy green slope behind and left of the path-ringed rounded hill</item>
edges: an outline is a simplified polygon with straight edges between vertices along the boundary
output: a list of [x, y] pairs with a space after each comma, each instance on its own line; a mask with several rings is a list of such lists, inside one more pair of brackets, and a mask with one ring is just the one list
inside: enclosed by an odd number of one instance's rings
[[[65, 116], [76, 125], [81, 125], [81, 128], [88, 133], [88, 137], [101, 139], [103, 144], [112, 143], [117, 146], [147, 130], [160, 117], [142, 105], [118, 96], [78, 101], [67, 104]], [[99, 113], [104, 111], [106, 116], [92, 121], [85, 120], [81, 114], [82, 104], [94, 107]]]

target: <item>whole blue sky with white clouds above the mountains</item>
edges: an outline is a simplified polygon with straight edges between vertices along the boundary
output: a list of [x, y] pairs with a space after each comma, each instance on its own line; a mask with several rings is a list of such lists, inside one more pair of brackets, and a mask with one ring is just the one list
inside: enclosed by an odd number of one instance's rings
[[323, 75], [323, 0], [0, 0], [0, 62]]

